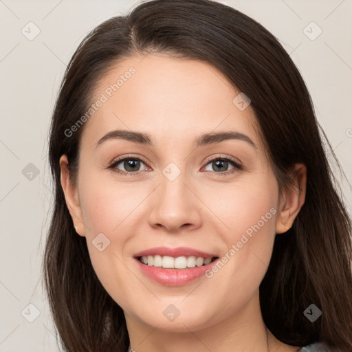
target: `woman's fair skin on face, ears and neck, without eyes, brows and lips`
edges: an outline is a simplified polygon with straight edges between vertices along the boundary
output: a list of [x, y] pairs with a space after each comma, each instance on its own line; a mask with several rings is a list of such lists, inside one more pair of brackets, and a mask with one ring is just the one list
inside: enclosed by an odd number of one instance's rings
[[[67, 207], [87, 239], [94, 270], [124, 310], [135, 351], [267, 351], [259, 285], [276, 234], [292, 226], [303, 206], [306, 168], [296, 165], [300, 189], [278, 194], [251, 107], [240, 111], [232, 103], [239, 91], [200, 61], [166, 54], [126, 58], [102, 78], [94, 101], [131, 66], [135, 74], [85, 122], [76, 184], [69, 181], [67, 157], [60, 159]], [[150, 133], [153, 146], [108, 140], [95, 148], [115, 129]], [[230, 129], [248, 135], [258, 149], [241, 140], [192, 145], [201, 133]], [[146, 161], [135, 166], [139, 175], [107, 169], [124, 155]], [[208, 162], [219, 157], [233, 157], [245, 168], [224, 175], [234, 166], [219, 170]], [[174, 181], [162, 173], [170, 162], [181, 170]], [[123, 162], [116, 168], [126, 172]], [[212, 278], [166, 287], [144, 276], [133, 259], [159, 245], [221, 257], [270, 208], [276, 214]], [[102, 252], [92, 244], [100, 232], [111, 241]], [[170, 304], [180, 312], [172, 322], [162, 314]], [[269, 351], [300, 349], [268, 336]]]

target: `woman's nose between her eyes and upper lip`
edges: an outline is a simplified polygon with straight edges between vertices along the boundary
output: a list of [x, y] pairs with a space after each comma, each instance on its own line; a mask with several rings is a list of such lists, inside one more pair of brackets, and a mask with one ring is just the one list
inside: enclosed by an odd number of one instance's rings
[[153, 228], [178, 233], [201, 226], [202, 206], [199, 187], [181, 173], [171, 181], [162, 175], [153, 192], [148, 222]]

